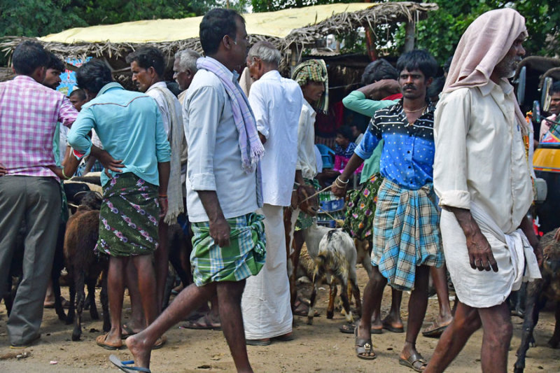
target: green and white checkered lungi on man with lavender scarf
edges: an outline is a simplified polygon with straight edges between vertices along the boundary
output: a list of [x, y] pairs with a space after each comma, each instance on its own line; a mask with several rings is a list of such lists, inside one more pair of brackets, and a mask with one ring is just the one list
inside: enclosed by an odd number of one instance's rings
[[257, 213], [248, 213], [227, 219], [231, 228], [230, 246], [223, 248], [210, 237], [208, 222], [192, 223], [190, 262], [194, 267], [196, 286], [217, 281], [241, 281], [258, 274], [266, 257], [264, 218]]

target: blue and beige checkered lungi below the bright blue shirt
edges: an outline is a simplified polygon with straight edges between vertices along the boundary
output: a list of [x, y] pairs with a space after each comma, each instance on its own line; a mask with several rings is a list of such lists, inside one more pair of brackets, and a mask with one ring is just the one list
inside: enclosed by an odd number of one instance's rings
[[412, 290], [417, 266], [443, 263], [433, 184], [408, 190], [384, 179], [373, 220], [372, 265], [393, 288]]

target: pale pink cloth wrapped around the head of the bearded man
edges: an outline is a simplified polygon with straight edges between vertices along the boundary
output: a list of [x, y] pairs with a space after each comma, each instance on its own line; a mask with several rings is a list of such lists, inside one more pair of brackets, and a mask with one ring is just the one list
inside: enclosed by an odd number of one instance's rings
[[[503, 8], [490, 10], [474, 20], [461, 36], [443, 93], [461, 87], [486, 85], [494, 70], [520, 34], [527, 36], [525, 18], [517, 10]], [[503, 80], [507, 81], [506, 78]], [[510, 93], [513, 95], [513, 92]], [[527, 122], [515, 101], [515, 113], [519, 125], [527, 130]]]

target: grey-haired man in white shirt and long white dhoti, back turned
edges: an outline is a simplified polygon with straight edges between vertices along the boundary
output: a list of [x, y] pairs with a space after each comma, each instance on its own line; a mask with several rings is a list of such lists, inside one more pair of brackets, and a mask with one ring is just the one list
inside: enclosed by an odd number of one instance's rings
[[247, 57], [256, 80], [248, 100], [265, 146], [261, 169], [267, 258], [262, 271], [247, 279], [241, 302], [246, 343], [256, 346], [293, 338], [283, 207], [292, 195], [303, 95], [294, 80], [280, 76], [280, 59], [279, 50], [267, 41], [255, 43]]

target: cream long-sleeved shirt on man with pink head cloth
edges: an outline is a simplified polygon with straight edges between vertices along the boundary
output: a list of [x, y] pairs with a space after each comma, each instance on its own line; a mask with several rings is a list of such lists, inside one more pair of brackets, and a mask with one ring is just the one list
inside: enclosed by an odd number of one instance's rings
[[434, 188], [440, 205], [481, 206], [504, 233], [533, 201], [513, 87], [505, 81], [444, 94], [435, 110]]

